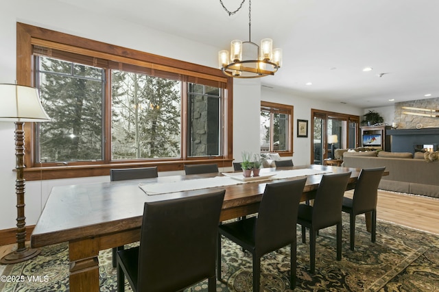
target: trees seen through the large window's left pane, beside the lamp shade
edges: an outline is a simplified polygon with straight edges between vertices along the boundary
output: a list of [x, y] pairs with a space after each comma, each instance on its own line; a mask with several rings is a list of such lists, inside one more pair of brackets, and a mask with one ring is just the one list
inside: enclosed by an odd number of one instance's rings
[[102, 159], [103, 70], [40, 58], [40, 93], [50, 123], [40, 124], [45, 161]]

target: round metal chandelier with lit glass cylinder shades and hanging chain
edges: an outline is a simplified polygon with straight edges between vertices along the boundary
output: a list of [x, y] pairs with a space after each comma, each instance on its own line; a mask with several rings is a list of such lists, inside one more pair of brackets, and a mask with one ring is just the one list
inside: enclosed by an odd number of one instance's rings
[[[228, 15], [233, 15], [241, 10], [242, 5], [234, 12], [230, 12], [219, 0]], [[232, 40], [230, 42], [230, 55], [227, 50], [218, 52], [219, 68], [224, 75], [236, 78], [257, 78], [274, 75], [282, 66], [282, 49], [272, 49], [273, 40], [264, 38], [261, 47], [251, 41], [252, 1], [248, 1], [248, 41]], [[230, 58], [229, 58], [230, 56]], [[231, 61], [231, 62], [230, 62]]]

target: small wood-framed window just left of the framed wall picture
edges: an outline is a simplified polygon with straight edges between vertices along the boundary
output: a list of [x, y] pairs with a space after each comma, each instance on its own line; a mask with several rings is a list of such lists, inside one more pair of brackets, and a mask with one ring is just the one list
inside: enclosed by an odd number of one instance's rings
[[293, 155], [293, 106], [261, 101], [261, 152]]

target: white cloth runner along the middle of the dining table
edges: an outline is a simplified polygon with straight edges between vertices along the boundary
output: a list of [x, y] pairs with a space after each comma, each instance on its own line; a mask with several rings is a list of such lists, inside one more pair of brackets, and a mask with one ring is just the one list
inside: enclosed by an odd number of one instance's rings
[[[324, 171], [319, 169], [292, 169], [283, 171], [272, 171], [270, 174], [275, 174], [268, 180], [280, 180], [283, 178], [295, 178], [298, 176], [316, 175], [322, 173], [331, 173], [331, 171]], [[262, 174], [262, 173], [261, 173]], [[268, 181], [267, 180], [267, 181]], [[233, 186], [236, 184], [246, 184], [254, 181], [244, 182], [235, 180], [227, 176], [215, 176], [215, 178], [198, 178], [195, 180], [180, 180], [173, 182], [156, 182], [152, 184], [139, 184], [147, 195], [160, 195], [165, 193], [176, 193], [181, 191], [200, 190], [202, 188], [217, 188], [219, 186]]]

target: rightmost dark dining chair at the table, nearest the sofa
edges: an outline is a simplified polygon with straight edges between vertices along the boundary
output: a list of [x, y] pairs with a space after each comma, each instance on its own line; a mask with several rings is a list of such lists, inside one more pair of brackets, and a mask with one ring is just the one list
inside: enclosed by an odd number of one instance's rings
[[377, 192], [385, 167], [361, 169], [354, 195], [351, 198], [343, 197], [342, 211], [349, 213], [351, 250], [355, 248], [355, 217], [367, 212], [371, 213], [370, 234], [375, 243], [377, 236]]

